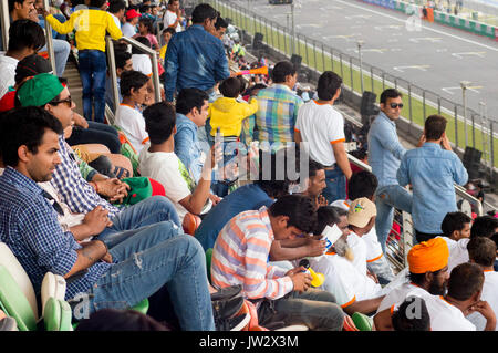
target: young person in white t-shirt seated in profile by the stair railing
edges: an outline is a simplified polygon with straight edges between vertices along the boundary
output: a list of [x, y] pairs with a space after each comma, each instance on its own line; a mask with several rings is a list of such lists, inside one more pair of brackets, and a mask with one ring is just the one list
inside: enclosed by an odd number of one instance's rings
[[148, 77], [139, 71], [125, 71], [121, 75], [123, 101], [117, 107], [115, 124], [124, 132], [137, 154], [148, 141], [144, 117], [137, 108], [147, 101], [147, 85]]

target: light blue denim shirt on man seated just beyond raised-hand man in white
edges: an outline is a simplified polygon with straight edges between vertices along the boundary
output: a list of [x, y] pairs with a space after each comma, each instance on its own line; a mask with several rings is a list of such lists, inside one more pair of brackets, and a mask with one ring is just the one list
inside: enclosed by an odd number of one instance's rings
[[203, 148], [197, 138], [197, 125], [184, 114], [176, 113], [175, 154], [196, 183], [199, 181], [203, 172], [201, 152]]

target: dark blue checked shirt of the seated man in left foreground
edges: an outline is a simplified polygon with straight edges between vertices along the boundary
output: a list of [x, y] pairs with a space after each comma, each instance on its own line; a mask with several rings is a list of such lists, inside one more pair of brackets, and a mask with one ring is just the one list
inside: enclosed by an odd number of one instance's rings
[[[37, 183], [11, 167], [0, 176], [0, 240], [27, 271], [35, 293], [40, 293], [46, 272], [66, 274], [81, 249], [73, 235], [62, 230], [58, 214], [42, 193]], [[65, 299], [87, 292], [111, 266], [97, 262], [90, 267], [82, 278], [68, 283]]]

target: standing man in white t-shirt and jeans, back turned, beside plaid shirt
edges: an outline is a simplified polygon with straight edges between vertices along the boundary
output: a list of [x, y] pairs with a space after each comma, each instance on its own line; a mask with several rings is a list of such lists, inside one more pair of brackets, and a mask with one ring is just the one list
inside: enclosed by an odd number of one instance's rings
[[345, 199], [345, 183], [352, 175], [344, 148], [344, 118], [333, 104], [341, 94], [342, 79], [325, 71], [319, 79], [319, 100], [303, 104], [298, 112], [294, 141], [307, 142], [310, 156], [325, 166], [326, 188], [323, 196], [330, 203]]

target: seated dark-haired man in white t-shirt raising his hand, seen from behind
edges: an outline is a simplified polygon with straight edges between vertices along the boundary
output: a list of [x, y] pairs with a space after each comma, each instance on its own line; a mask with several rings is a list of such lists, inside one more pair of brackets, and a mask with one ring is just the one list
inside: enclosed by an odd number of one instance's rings
[[207, 212], [212, 206], [209, 195], [215, 147], [206, 158], [196, 185], [175, 154], [176, 113], [173, 105], [165, 102], [153, 104], [145, 108], [144, 118], [151, 145], [142, 149], [139, 155], [142, 175], [163, 184], [166, 197], [174, 204], [181, 222], [187, 212]]

